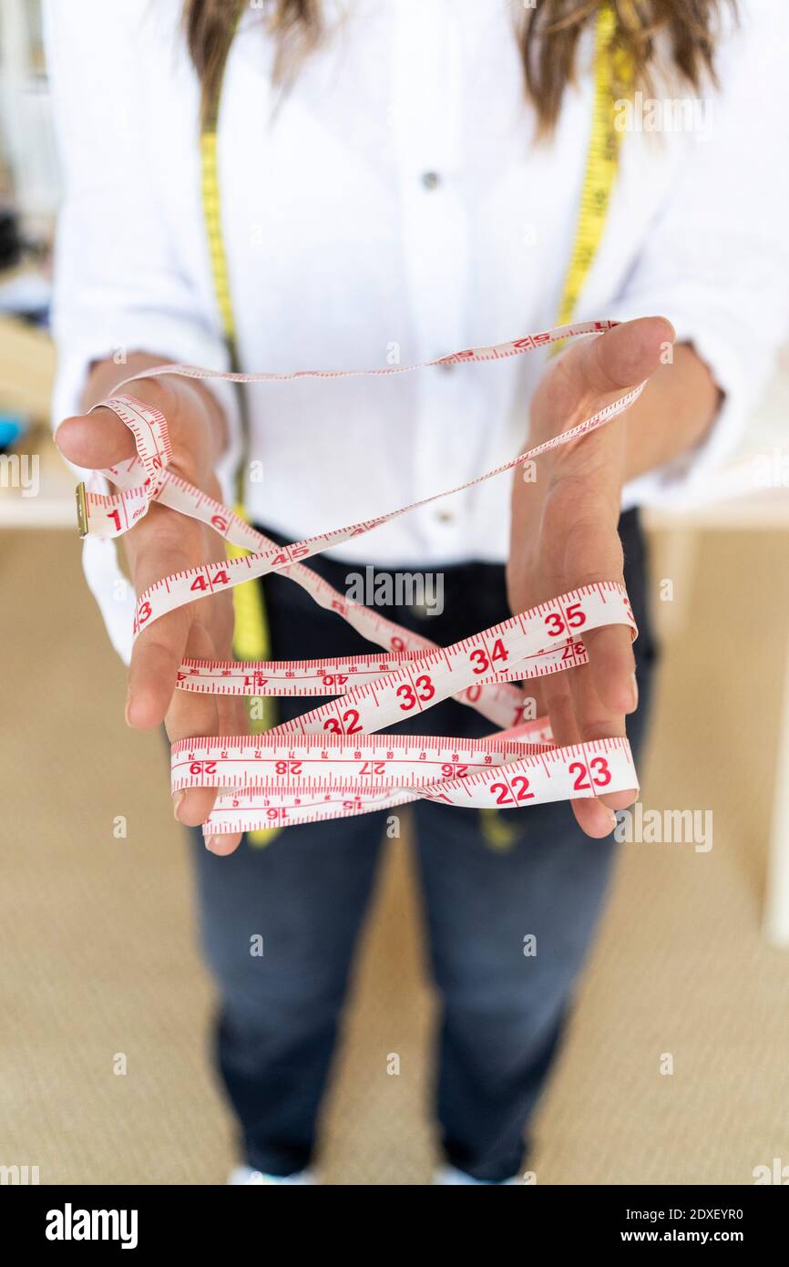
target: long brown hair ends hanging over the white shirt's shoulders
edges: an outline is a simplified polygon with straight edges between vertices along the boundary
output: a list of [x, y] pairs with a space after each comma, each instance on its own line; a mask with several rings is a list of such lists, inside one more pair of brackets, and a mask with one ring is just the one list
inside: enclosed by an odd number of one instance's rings
[[[248, 0], [184, 0], [184, 23], [203, 90], [203, 122], [211, 122], [224, 61]], [[695, 91], [704, 76], [716, 82], [713, 53], [719, 10], [737, 0], [537, 0], [524, 6], [517, 32], [526, 89], [538, 132], [553, 129], [564, 90], [572, 81], [581, 32], [604, 4], [617, 14], [614, 49], [627, 56], [634, 86], [648, 87], [655, 37], [666, 33], [675, 71]], [[322, 0], [267, 0], [268, 29], [277, 41], [275, 80], [284, 82], [320, 42]]]

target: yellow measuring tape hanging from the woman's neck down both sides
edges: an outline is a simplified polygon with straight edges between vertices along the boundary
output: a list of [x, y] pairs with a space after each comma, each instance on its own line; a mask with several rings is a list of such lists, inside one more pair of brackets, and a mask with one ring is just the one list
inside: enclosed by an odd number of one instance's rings
[[[237, 5], [236, 24], [241, 19], [244, 4]], [[586, 156], [586, 169], [581, 190], [578, 226], [572, 243], [572, 252], [567, 265], [567, 274], [562, 289], [559, 308], [557, 324], [570, 323], [578, 298], [591, 269], [596, 255], [608, 204], [613, 190], [617, 170], [619, 165], [619, 146], [622, 133], [614, 127], [614, 101], [617, 101], [632, 85], [632, 67], [627, 56], [613, 47], [617, 35], [617, 14], [610, 4], [604, 4], [595, 22], [595, 54], [594, 54], [594, 108], [591, 119], [591, 137]], [[229, 51], [229, 46], [228, 46]], [[227, 53], [225, 53], [227, 60]], [[228, 277], [227, 255], [222, 237], [222, 209], [219, 200], [219, 180], [217, 175], [217, 124], [219, 117], [219, 100], [222, 94], [222, 75], [218, 77], [218, 86], [210, 110], [203, 125], [200, 136], [201, 157], [201, 190], [203, 210], [205, 218], [205, 232], [208, 237], [211, 274], [214, 279], [214, 291], [217, 307], [222, 319], [224, 337], [230, 353], [230, 367], [237, 370], [238, 357], [236, 350], [236, 321], [233, 315], [233, 300]], [[553, 351], [560, 348], [557, 343]], [[243, 488], [238, 489], [238, 504], [236, 512], [244, 517]], [[243, 550], [228, 547], [230, 556], [244, 554]], [[236, 613], [236, 631], [233, 636], [233, 649], [239, 660], [266, 660], [271, 656], [268, 642], [268, 627], [263, 606], [262, 589], [257, 582], [247, 582], [237, 585], [233, 590], [233, 603]], [[252, 727], [256, 732], [270, 730], [275, 725], [275, 701], [263, 698], [261, 717], [252, 718]], [[494, 849], [508, 849], [517, 839], [518, 830], [514, 825], [504, 821], [496, 810], [480, 811], [483, 835], [486, 843]], [[279, 835], [281, 829], [271, 831], [248, 832], [255, 844], [266, 844]]]

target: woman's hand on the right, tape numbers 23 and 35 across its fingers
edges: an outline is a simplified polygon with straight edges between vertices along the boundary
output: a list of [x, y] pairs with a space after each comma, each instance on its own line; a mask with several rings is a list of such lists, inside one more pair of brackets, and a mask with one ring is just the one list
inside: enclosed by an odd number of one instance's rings
[[[548, 365], [534, 393], [529, 447], [569, 431], [637, 386], [672, 342], [671, 324], [650, 317], [570, 345]], [[631, 413], [624, 413], [538, 457], [533, 483], [515, 470], [507, 573], [513, 612], [580, 585], [623, 580], [617, 523], [629, 422]], [[584, 644], [589, 664], [534, 684], [538, 710], [548, 715], [561, 746], [624, 735], [624, 717], [638, 702], [631, 631], [622, 625], [593, 630]], [[574, 801], [572, 808], [588, 835], [607, 836], [615, 826], [613, 811], [632, 805], [636, 794], [633, 789]]]

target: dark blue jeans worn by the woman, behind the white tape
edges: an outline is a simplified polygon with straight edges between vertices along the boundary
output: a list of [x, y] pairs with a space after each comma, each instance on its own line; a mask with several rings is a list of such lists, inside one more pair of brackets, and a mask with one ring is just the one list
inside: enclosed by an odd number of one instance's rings
[[[640, 627], [641, 704], [628, 723], [637, 754], [655, 650], [634, 512], [622, 516], [619, 532]], [[325, 559], [310, 565], [342, 592], [347, 573], [358, 570]], [[442, 614], [419, 618], [408, 608], [384, 613], [443, 645], [509, 614], [500, 566], [442, 570]], [[375, 650], [293, 582], [271, 576], [263, 585], [275, 659]], [[315, 702], [280, 699], [277, 706], [286, 720]], [[446, 701], [401, 729], [470, 736], [491, 726]], [[196, 843], [203, 941], [219, 988], [217, 1057], [244, 1158], [256, 1169], [289, 1175], [310, 1161], [385, 820], [381, 812], [289, 827], [265, 848], [243, 840], [230, 858], [209, 854], [201, 836]], [[475, 1178], [505, 1180], [522, 1164], [524, 1133], [561, 1036], [615, 846], [612, 837], [584, 836], [566, 803], [500, 811], [498, 846], [475, 810], [418, 801], [412, 825], [441, 1002], [436, 1114], [445, 1154]], [[512, 839], [502, 844], [502, 835]], [[262, 957], [251, 954], [256, 935], [263, 938]], [[529, 935], [536, 954], [524, 953]]]

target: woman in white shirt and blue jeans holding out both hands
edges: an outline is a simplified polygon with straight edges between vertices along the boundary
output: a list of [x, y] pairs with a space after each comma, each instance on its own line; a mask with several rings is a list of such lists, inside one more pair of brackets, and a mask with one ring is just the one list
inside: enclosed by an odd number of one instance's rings
[[[163, 361], [356, 369], [570, 312], [621, 319], [559, 357], [255, 388], [246, 442], [228, 384], [161, 378], [134, 393], [166, 414], [174, 468], [225, 500], [246, 443], [246, 513], [291, 541], [462, 483], [648, 379], [623, 417], [541, 460], [533, 483], [513, 480], [512, 507], [499, 478], [315, 563], [341, 590], [369, 563], [438, 573], [441, 614], [384, 614], [443, 645], [624, 579], [634, 650], [623, 627], [599, 631], [589, 665], [545, 679], [537, 704], [559, 744], [624, 734], [628, 717], [637, 753], [653, 651], [636, 508], [686, 490], [732, 445], [786, 309], [788, 22], [779, 3], [738, 9], [740, 22], [717, 0], [85, 0], [75, 15], [49, 0], [66, 177], [54, 414], [73, 414], [62, 452], [89, 469], [130, 455], [117, 417], [86, 411]], [[693, 108], [679, 131], [666, 123], [675, 98]], [[138, 593], [222, 552], [161, 506], [124, 545]], [[86, 556], [100, 598], [104, 557]], [[263, 588], [270, 658], [371, 650], [287, 579]], [[128, 655], [128, 608], [103, 607]], [[174, 693], [185, 655], [230, 654], [232, 626], [217, 599], [146, 630], [128, 723], [163, 721], [171, 740], [238, 732], [232, 702]], [[279, 716], [308, 707], [282, 699]], [[424, 718], [432, 734], [485, 729], [453, 702]], [[211, 798], [181, 794], [176, 818], [199, 825]], [[614, 811], [633, 798], [574, 802], [576, 824], [565, 805], [491, 822], [417, 802], [442, 1003], [438, 1182], [515, 1182], [608, 882]], [[234, 1181], [310, 1181], [382, 827], [376, 813], [195, 849], [219, 1064], [241, 1125]], [[249, 953], [255, 935], [263, 957]], [[529, 936], [538, 954], [526, 957]]]

